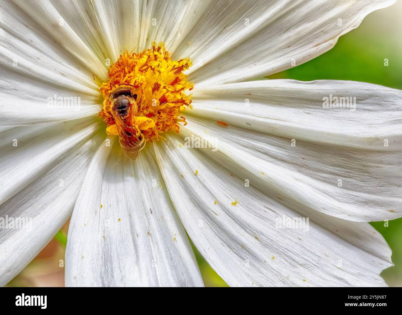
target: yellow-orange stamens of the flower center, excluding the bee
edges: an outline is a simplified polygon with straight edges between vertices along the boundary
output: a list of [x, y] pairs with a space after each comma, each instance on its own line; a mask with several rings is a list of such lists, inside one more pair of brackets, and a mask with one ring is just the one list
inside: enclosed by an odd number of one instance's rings
[[[142, 133], [146, 141], [158, 140], [163, 132], [174, 130], [179, 132], [179, 122], [185, 122], [180, 113], [186, 107], [191, 107], [191, 91], [193, 84], [187, 82], [183, 74], [192, 66], [189, 58], [178, 61], [170, 60], [164, 43], [152, 43], [151, 49], [140, 54], [129, 53], [127, 50], [110, 66], [109, 78], [102, 83], [100, 91], [103, 94], [103, 117], [109, 135], [118, 135], [116, 121], [113, 116], [113, 103], [109, 97], [119, 87], [132, 87], [137, 94], [136, 102], [141, 103], [141, 109], [131, 117], [131, 124]], [[130, 103], [130, 106], [131, 105]]]

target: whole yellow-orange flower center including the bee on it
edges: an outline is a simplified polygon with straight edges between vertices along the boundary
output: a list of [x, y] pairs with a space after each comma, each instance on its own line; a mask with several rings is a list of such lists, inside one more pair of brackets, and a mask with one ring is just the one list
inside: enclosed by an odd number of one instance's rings
[[170, 60], [164, 43], [156, 46], [155, 42], [140, 54], [126, 50], [110, 66], [100, 87], [104, 101], [99, 116], [107, 134], [119, 136], [131, 159], [147, 141], [158, 140], [170, 130], [179, 132], [180, 121], [186, 124], [180, 113], [191, 106], [191, 95], [184, 91], [194, 86], [183, 74], [190, 66], [189, 58]]

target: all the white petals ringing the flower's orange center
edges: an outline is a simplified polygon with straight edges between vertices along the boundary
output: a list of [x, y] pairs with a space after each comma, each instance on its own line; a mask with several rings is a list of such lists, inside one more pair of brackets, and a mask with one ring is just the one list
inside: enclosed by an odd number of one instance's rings
[[[401, 216], [401, 91], [252, 80], [394, 2], [0, 2], [0, 216], [33, 218], [0, 230], [0, 284], [72, 216], [68, 286], [202, 286], [186, 231], [230, 286], [386, 285], [391, 250], [367, 222]], [[194, 108], [132, 161], [105, 139], [97, 80], [154, 40], [193, 60]], [[80, 107], [49, 107], [53, 95]], [[192, 136], [217, 150], [185, 147]]]

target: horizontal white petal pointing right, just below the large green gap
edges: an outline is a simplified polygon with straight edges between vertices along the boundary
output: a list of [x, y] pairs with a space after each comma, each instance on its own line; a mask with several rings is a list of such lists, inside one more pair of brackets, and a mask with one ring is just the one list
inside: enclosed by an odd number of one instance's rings
[[[355, 97], [355, 111], [324, 108], [331, 95]], [[194, 89], [189, 113], [296, 141], [389, 152], [402, 148], [401, 104], [402, 91], [376, 84], [258, 80]]]

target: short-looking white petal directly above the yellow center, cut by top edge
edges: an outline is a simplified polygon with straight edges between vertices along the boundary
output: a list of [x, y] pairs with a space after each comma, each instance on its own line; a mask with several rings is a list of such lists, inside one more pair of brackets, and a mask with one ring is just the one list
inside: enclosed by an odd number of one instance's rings
[[172, 53], [209, 3], [209, 0], [95, 1], [93, 8], [108, 56], [113, 60], [126, 48], [137, 53], [151, 48], [152, 41], [163, 41]]

